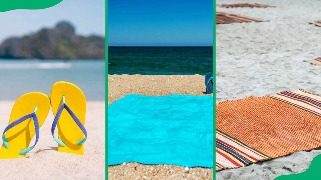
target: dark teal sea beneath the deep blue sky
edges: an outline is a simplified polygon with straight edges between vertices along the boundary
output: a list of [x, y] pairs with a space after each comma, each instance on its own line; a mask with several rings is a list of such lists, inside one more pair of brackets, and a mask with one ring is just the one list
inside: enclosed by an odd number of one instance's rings
[[205, 75], [213, 47], [108, 47], [108, 74]]

